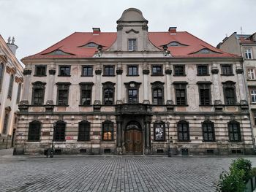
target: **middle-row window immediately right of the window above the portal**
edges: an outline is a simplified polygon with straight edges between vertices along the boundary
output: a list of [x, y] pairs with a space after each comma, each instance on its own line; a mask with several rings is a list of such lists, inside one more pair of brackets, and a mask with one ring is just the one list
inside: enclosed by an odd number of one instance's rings
[[151, 82], [152, 85], [152, 104], [164, 104], [164, 82]]

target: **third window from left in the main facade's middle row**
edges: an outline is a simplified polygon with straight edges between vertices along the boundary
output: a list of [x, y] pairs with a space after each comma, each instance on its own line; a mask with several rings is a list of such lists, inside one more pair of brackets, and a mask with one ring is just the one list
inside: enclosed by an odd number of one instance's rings
[[94, 85], [93, 82], [80, 83], [81, 105], [91, 105], [92, 85]]

